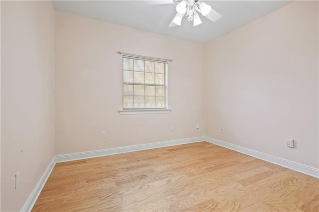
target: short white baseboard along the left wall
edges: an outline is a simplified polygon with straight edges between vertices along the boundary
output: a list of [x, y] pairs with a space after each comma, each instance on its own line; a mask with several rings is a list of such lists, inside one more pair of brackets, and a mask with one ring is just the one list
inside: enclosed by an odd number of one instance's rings
[[35, 188], [31, 192], [31, 194], [29, 195], [28, 199], [25, 201], [20, 212], [30, 212], [32, 210], [36, 200], [38, 199], [47, 179], [49, 178], [49, 176], [54, 168], [54, 165], [55, 165], [55, 156], [53, 157], [53, 159], [49, 163], [48, 167], [45, 169], [43, 175], [41, 176], [40, 180], [36, 184]]

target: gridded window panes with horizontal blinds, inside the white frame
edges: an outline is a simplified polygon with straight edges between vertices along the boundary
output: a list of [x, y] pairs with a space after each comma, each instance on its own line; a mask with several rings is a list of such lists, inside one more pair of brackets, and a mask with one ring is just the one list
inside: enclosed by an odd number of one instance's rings
[[167, 108], [167, 63], [123, 56], [123, 110]]

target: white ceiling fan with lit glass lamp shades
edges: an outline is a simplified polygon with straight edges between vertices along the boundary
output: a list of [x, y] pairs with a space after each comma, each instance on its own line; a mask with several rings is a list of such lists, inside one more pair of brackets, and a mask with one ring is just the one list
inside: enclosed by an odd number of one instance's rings
[[183, 16], [188, 16], [188, 21], [193, 21], [193, 25], [197, 26], [202, 23], [197, 12], [207, 17], [209, 20], [216, 22], [222, 17], [217, 11], [211, 8], [210, 5], [199, 0], [173, 0], [176, 5], [177, 14], [168, 25], [169, 27], [180, 26]]

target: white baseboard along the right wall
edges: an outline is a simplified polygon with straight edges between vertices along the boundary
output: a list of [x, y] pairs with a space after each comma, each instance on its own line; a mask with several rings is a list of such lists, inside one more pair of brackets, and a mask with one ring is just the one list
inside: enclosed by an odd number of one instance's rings
[[319, 169], [205, 136], [207, 142], [319, 178]]

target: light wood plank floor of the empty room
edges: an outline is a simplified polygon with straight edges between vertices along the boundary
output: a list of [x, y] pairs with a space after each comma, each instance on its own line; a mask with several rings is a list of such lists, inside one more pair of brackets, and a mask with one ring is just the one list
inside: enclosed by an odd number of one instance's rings
[[319, 211], [319, 179], [207, 142], [58, 163], [32, 211]]

